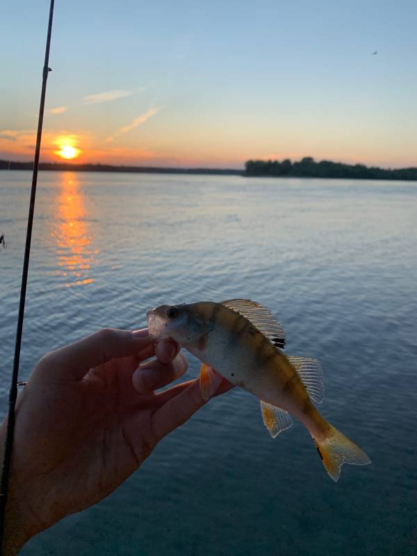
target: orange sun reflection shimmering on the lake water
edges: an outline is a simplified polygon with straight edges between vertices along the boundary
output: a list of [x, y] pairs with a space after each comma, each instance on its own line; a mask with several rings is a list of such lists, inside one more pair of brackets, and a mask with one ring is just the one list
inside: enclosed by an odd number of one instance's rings
[[99, 250], [94, 250], [85, 198], [74, 172], [61, 174], [56, 199], [56, 219], [51, 234], [56, 240], [58, 273], [67, 277], [65, 286], [83, 286], [94, 279], [90, 270]]

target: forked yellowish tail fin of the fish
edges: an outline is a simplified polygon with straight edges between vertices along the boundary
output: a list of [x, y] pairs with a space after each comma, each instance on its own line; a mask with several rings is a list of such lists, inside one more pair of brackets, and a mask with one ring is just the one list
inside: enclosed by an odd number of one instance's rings
[[341, 475], [343, 464], [370, 464], [370, 459], [366, 453], [332, 425], [330, 425], [329, 434], [324, 440], [318, 441], [313, 438], [313, 441], [327, 473], [335, 482]]

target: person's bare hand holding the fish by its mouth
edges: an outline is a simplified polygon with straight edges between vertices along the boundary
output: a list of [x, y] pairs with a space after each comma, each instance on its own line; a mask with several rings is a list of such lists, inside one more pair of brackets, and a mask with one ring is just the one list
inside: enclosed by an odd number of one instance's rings
[[6, 556], [108, 496], [204, 405], [198, 379], [154, 393], [186, 369], [179, 347], [155, 346], [147, 329], [104, 329], [42, 357], [17, 400]]

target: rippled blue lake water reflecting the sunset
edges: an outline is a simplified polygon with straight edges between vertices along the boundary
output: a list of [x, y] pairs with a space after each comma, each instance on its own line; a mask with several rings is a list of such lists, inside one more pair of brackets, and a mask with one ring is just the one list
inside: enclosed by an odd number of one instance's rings
[[[0, 173], [2, 415], [30, 183]], [[157, 304], [248, 297], [277, 315], [288, 353], [320, 359], [322, 414], [373, 465], [335, 484], [302, 425], [272, 440], [234, 389], [22, 554], [416, 555], [416, 284], [415, 182], [40, 172], [21, 379]]]

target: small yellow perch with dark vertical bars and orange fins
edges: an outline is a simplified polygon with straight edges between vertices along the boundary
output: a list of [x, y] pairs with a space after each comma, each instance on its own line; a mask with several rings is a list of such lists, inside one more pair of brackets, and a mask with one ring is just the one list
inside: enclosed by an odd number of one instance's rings
[[245, 299], [165, 304], [147, 311], [147, 324], [154, 341], [172, 338], [202, 361], [199, 384], [204, 400], [224, 377], [259, 398], [272, 438], [290, 428], [293, 418], [299, 420], [335, 482], [343, 464], [371, 463], [313, 404], [324, 399], [320, 363], [284, 353], [284, 328], [263, 305]]

